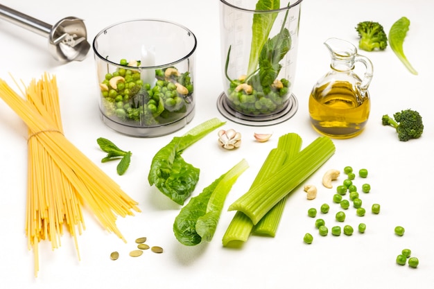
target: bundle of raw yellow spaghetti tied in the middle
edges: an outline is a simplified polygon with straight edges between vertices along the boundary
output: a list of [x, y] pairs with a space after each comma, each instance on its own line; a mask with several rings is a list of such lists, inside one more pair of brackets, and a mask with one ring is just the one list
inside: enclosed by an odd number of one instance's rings
[[64, 137], [55, 77], [45, 74], [40, 81], [33, 80], [26, 89], [27, 99], [0, 79], [0, 97], [28, 126], [26, 234], [28, 247], [35, 252], [35, 275], [38, 243], [48, 239], [53, 248], [59, 247], [64, 225], [78, 252], [76, 233], [85, 228], [82, 204], [105, 229], [125, 241], [116, 216], [139, 212], [137, 202]]

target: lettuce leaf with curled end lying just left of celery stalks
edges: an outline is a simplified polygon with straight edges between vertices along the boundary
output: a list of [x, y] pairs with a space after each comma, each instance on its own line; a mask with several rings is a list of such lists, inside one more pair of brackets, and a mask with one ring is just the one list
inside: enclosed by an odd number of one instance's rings
[[247, 168], [248, 162], [241, 160], [181, 209], [173, 223], [173, 233], [180, 243], [193, 246], [213, 238], [226, 196]]

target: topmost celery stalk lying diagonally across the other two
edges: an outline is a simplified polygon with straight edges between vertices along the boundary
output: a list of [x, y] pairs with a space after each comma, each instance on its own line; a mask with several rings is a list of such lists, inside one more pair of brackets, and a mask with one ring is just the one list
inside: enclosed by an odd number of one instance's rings
[[329, 137], [318, 137], [293, 161], [238, 198], [229, 206], [229, 211], [242, 211], [256, 225], [275, 204], [318, 170], [335, 150]]

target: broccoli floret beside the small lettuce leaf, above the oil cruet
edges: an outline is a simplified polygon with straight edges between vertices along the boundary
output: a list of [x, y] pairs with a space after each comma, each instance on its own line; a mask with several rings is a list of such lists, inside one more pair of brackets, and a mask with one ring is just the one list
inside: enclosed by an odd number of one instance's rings
[[361, 37], [358, 47], [365, 51], [384, 50], [388, 46], [388, 36], [378, 22], [363, 21], [357, 24], [356, 31]]

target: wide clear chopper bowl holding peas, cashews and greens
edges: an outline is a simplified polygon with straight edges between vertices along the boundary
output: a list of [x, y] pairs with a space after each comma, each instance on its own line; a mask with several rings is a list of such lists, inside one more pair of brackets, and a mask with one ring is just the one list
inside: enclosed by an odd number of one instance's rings
[[103, 122], [134, 137], [180, 130], [194, 116], [197, 40], [184, 26], [136, 19], [101, 30], [93, 49]]

